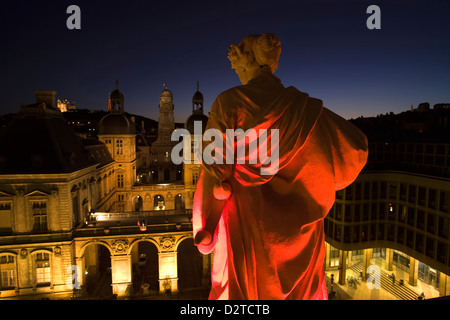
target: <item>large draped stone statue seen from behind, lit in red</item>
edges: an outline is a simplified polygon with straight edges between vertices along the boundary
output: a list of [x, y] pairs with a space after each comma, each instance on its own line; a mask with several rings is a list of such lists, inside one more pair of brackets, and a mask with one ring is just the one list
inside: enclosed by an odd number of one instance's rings
[[[193, 229], [199, 251], [214, 250], [210, 299], [327, 299], [323, 221], [336, 190], [351, 184], [367, 161], [359, 129], [273, 75], [280, 52], [273, 34], [231, 45], [228, 58], [242, 85], [221, 93], [211, 108], [207, 128], [223, 135], [277, 129], [279, 143], [269, 151], [279, 157], [277, 170], [265, 175], [264, 163], [230, 161], [226, 150], [216, 153], [224, 161], [202, 164]], [[249, 147], [250, 140], [243, 143]], [[208, 223], [210, 237], [202, 234]]]

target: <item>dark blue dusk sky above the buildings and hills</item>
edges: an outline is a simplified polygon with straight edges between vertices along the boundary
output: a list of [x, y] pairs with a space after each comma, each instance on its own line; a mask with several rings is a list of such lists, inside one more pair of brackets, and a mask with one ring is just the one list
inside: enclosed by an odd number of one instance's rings
[[[81, 30], [66, 8], [81, 8]], [[381, 8], [381, 30], [366, 9]], [[159, 93], [187, 118], [200, 81], [205, 111], [239, 84], [227, 46], [252, 33], [282, 42], [276, 75], [346, 118], [450, 102], [449, 1], [19, 1], [0, 13], [0, 113], [54, 89], [78, 108], [107, 108], [115, 80], [125, 110], [158, 118]]]

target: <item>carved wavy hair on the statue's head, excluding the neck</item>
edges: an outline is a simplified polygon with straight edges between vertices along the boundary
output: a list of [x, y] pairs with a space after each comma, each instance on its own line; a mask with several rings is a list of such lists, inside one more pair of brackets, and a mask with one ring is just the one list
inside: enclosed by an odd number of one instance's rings
[[232, 44], [228, 50], [233, 69], [245, 68], [256, 62], [260, 67], [268, 66], [273, 73], [278, 68], [281, 42], [272, 33], [252, 34], [242, 39], [239, 45]]

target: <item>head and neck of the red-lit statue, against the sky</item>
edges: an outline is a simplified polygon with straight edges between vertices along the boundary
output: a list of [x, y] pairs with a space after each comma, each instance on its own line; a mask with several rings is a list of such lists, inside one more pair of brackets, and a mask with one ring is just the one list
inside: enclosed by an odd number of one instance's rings
[[228, 59], [242, 84], [247, 84], [261, 72], [274, 73], [278, 68], [281, 43], [272, 33], [253, 34], [228, 47]]

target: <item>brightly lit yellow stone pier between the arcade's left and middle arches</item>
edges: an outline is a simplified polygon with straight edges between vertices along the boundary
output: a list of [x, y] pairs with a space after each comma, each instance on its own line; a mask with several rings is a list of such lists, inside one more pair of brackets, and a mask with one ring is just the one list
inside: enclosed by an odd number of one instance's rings
[[131, 283], [131, 255], [111, 256], [111, 286], [113, 294], [118, 297], [126, 296]]

